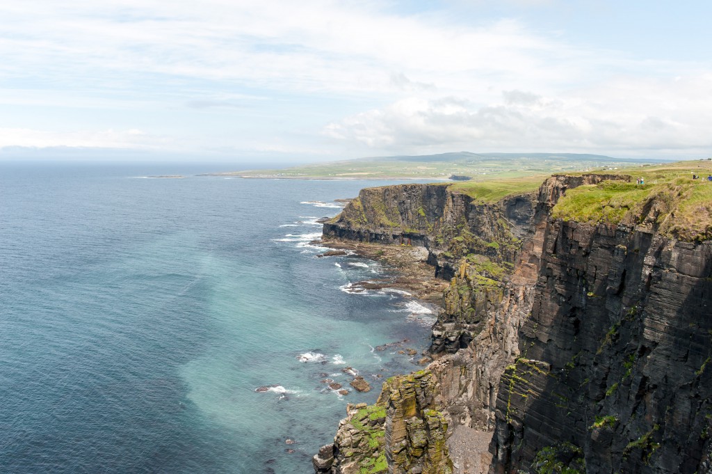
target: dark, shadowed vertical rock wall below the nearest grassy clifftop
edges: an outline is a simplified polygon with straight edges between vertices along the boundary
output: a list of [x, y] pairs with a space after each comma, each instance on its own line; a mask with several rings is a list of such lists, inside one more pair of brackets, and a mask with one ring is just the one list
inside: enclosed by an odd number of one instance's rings
[[493, 472], [570, 443], [587, 473], [709, 472], [712, 245], [550, 222]]

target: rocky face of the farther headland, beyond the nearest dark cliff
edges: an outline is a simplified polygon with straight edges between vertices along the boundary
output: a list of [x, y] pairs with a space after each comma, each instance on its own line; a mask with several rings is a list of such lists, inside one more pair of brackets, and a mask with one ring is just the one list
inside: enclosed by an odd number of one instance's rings
[[426, 247], [436, 273], [450, 278], [467, 254], [513, 262], [534, 205], [533, 195], [476, 202], [447, 185], [371, 187], [325, 223], [323, 232], [330, 237]]

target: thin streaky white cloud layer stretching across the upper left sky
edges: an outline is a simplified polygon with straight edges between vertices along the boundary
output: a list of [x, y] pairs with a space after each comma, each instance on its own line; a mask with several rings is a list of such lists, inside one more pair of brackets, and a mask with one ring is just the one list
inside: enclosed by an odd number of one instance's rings
[[[0, 6], [0, 76], [51, 71], [78, 86], [150, 74], [245, 81], [293, 91], [460, 90], [527, 76], [560, 83], [581, 54], [516, 21], [456, 26], [437, 15], [396, 16], [375, 4], [207, 0], [36, 1]], [[592, 65], [593, 66], [593, 65]], [[394, 81], [394, 78], [396, 80]], [[398, 80], [398, 79], [401, 80]], [[407, 81], [402, 81], [407, 78]], [[150, 78], [143, 78], [150, 80]]]

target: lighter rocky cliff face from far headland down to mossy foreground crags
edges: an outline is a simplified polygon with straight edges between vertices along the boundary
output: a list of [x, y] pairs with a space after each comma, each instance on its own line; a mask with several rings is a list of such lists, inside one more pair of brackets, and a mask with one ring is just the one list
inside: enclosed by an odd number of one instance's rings
[[[498, 381], [518, 354], [518, 321], [531, 306], [530, 268], [515, 269], [513, 262], [531, 240], [534, 207], [533, 195], [481, 203], [444, 185], [400, 185], [362, 190], [324, 225], [333, 237], [424, 245], [436, 273], [451, 284], [433, 330], [438, 360], [424, 373], [384, 384], [377, 403], [387, 407], [382, 423], [362, 429], [367, 409], [375, 408], [351, 407], [335, 443], [315, 456], [318, 473], [452, 472], [448, 426], [493, 430]], [[379, 443], [364, 441], [372, 430], [384, 433]]]

